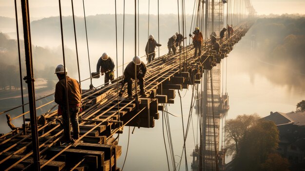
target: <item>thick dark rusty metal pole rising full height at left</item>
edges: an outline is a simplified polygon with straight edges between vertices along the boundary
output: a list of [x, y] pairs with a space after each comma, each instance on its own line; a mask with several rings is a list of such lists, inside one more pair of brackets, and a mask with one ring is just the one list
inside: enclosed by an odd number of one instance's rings
[[36, 105], [35, 105], [35, 88], [33, 76], [33, 63], [32, 63], [32, 43], [30, 34], [30, 16], [28, 0], [21, 0], [22, 22], [23, 22], [23, 36], [24, 36], [24, 53], [26, 63], [26, 74], [24, 77], [28, 85], [29, 94], [29, 108], [31, 118], [31, 133], [32, 133], [32, 146], [33, 146], [33, 170], [40, 171], [39, 162], [39, 144], [38, 144], [38, 131], [36, 120]]

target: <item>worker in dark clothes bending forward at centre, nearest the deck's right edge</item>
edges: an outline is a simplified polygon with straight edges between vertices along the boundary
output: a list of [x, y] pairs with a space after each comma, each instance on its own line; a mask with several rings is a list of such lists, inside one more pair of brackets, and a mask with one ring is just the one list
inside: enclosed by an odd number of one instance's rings
[[[146, 65], [144, 64], [143, 61], [141, 61], [140, 57], [135, 56], [133, 57], [133, 61], [130, 62], [125, 70], [124, 70], [124, 80], [122, 83], [122, 87], [124, 86], [125, 82], [127, 82], [127, 93], [128, 93], [128, 98], [133, 99], [133, 93], [132, 93], [132, 85], [133, 85], [133, 80], [135, 79], [135, 66], [136, 66], [136, 78], [139, 80], [140, 84], [140, 95], [146, 96], [145, 91], [144, 91], [144, 76], [146, 74]], [[120, 92], [120, 96], [123, 94], [123, 92]]]

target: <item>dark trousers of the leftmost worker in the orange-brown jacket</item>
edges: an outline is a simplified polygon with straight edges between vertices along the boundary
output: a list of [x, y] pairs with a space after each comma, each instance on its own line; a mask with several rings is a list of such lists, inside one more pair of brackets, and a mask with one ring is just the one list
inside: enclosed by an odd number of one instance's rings
[[[70, 140], [69, 132], [71, 128], [69, 128], [69, 117], [66, 107], [61, 107], [62, 110], [62, 123], [63, 123], [63, 131], [64, 131], [64, 137], [66, 140]], [[70, 114], [70, 120], [72, 124], [73, 129], [73, 138], [78, 139], [79, 137], [79, 126], [78, 126], [78, 113], [79, 113], [79, 107], [78, 106], [70, 106], [69, 107], [69, 114]]]

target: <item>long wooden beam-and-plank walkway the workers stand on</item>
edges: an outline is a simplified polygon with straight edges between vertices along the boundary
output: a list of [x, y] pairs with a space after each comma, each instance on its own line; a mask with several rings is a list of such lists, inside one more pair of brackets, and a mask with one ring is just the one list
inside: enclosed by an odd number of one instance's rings
[[[247, 25], [247, 26], [245, 26]], [[232, 47], [248, 31], [248, 23], [235, 28], [231, 38], [221, 45], [221, 53], [209, 49], [210, 39], [201, 57], [194, 57], [194, 48], [189, 45], [172, 57], [163, 56], [147, 65], [145, 91], [149, 97], [136, 101], [127, 99], [127, 94], [117, 98], [117, 84], [101, 89], [84, 90], [83, 112], [79, 115], [80, 138], [76, 144], [61, 144], [63, 129], [57, 122], [57, 110], [38, 118], [38, 141], [40, 168], [45, 171], [119, 171], [116, 160], [122, 148], [118, 146], [115, 133], [122, 133], [124, 126], [153, 128], [165, 103], [174, 103], [175, 90], [187, 89], [200, 84], [205, 70], [211, 70], [221, 59], [227, 57]], [[205, 47], [205, 45], [203, 47]], [[183, 52], [186, 54], [185, 65]], [[180, 72], [181, 66], [181, 72]], [[185, 66], [185, 67], [184, 67]], [[122, 82], [122, 77], [115, 80]], [[134, 87], [134, 83], [133, 83]], [[125, 86], [126, 88], [126, 86]], [[133, 91], [134, 94], [134, 91]], [[24, 133], [23, 129], [26, 133]], [[33, 150], [30, 123], [0, 136], [0, 170], [32, 170]]]

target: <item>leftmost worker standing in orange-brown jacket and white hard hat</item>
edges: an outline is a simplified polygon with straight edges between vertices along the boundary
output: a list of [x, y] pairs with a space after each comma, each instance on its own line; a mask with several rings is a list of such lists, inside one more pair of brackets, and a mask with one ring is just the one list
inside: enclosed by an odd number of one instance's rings
[[[81, 88], [76, 79], [66, 76], [65, 73], [67, 74], [67, 69], [64, 69], [63, 65], [58, 65], [56, 67], [55, 74], [57, 75], [59, 81], [57, 82], [55, 88], [55, 102], [58, 104], [58, 115], [62, 115], [64, 127], [64, 141], [75, 141], [79, 138], [78, 112], [80, 110]], [[65, 81], [65, 77], [67, 79], [67, 84]], [[66, 99], [66, 93], [68, 94], [68, 104]], [[69, 136], [69, 116], [71, 119], [74, 133], [73, 138]]]

